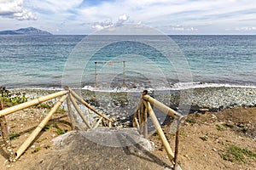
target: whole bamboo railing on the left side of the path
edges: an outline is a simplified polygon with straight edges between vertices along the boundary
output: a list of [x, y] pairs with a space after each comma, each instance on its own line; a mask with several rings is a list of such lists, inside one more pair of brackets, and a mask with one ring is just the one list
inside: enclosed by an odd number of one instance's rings
[[[25, 140], [25, 142], [23, 144], [21, 144], [20, 148], [14, 152], [13, 149], [12, 149], [12, 146], [11, 146], [10, 139], [9, 139], [8, 124], [7, 124], [5, 116], [8, 116], [9, 114], [12, 114], [16, 111], [20, 111], [20, 110], [26, 109], [28, 107], [31, 107], [32, 105], [38, 105], [38, 104], [40, 104], [44, 101], [48, 101], [50, 99], [56, 99], [58, 97], [61, 97], [61, 99], [59, 99], [55, 103], [55, 105], [49, 111], [48, 115], [44, 117], [44, 120], [38, 124], [38, 126], [33, 130], [33, 132]], [[1, 133], [2, 133], [2, 136], [3, 136], [4, 145], [6, 146], [6, 150], [8, 152], [8, 153], [5, 153], [5, 154], [9, 156], [9, 161], [16, 161], [25, 152], [25, 150], [28, 148], [28, 146], [32, 144], [32, 141], [34, 139], [36, 139], [36, 137], [41, 132], [41, 130], [47, 125], [51, 116], [53, 116], [53, 114], [57, 111], [57, 109], [61, 106], [61, 104], [65, 100], [67, 101], [68, 116], [71, 120], [73, 128], [75, 127], [73, 123], [75, 123], [77, 120], [74, 117], [71, 104], [73, 104], [73, 107], [79, 113], [79, 116], [81, 116], [83, 122], [85, 123], [85, 125], [88, 128], [96, 128], [96, 127], [99, 126], [99, 124], [101, 122], [102, 122], [102, 126], [108, 126], [108, 127], [112, 126], [113, 121], [110, 118], [108, 118], [107, 116], [104, 116], [99, 111], [96, 111], [95, 108], [90, 106], [86, 101], [84, 101], [84, 99], [80, 98], [79, 95], [75, 94], [73, 92], [73, 90], [70, 89], [70, 88], [65, 88], [64, 91], [57, 92], [57, 93], [54, 93], [54, 94], [49, 94], [49, 95], [46, 95], [46, 96], [38, 98], [38, 99], [32, 99], [30, 101], [27, 101], [26, 103], [22, 103], [20, 105], [15, 105], [15, 106], [6, 108], [4, 110], [3, 110], [3, 104], [0, 103]], [[98, 121], [95, 124], [92, 124], [92, 123], [90, 123], [86, 120], [86, 118], [84, 116], [84, 113], [82, 113], [82, 111], [79, 109], [79, 105], [77, 104], [76, 100], [79, 101], [79, 103], [86, 106], [90, 111], [94, 111], [96, 113], [96, 115], [99, 116]], [[95, 118], [97, 118], [97, 117], [95, 117]], [[2, 148], [0, 148], [0, 149], [2, 150]], [[2, 153], [3, 153], [3, 151], [4, 150], [2, 150]]]

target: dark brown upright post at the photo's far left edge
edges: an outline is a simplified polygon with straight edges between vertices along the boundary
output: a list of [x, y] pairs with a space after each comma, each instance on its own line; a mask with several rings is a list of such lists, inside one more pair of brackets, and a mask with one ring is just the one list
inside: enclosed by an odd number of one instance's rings
[[[0, 102], [0, 111], [2, 110], [3, 110], [3, 101]], [[0, 126], [1, 126], [1, 133], [3, 136], [3, 142], [5, 144], [6, 150], [9, 152], [9, 161], [13, 161], [15, 158], [15, 153], [13, 151], [13, 148], [9, 139], [8, 124], [5, 119], [5, 116], [0, 117]]]

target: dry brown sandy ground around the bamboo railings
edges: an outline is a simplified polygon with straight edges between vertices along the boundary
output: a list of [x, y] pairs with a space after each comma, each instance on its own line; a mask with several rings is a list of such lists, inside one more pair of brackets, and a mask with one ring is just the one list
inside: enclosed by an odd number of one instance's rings
[[[7, 116], [13, 150], [17, 150], [25, 139], [43, 120], [48, 110], [26, 109]], [[163, 127], [166, 137], [174, 149], [175, 136], [170, 126]], [[169, 169], [171, 162], [153, 133], [154, 151], [143, 150], [137, 144], [123, 148], [105, 147], [90, 142], [78, 135], [73, 136], [60, 149], [52, 139], [71, 131], [65, 112], [56, 113], [38, 138], [14, 163], [6, 161], [3, 150], [0, 169]], [[242, 161], [224, 160], [231, 146], [246, 148], [256, 154], [256, 108], [236, 108], [219, 112], [189, 115], [180, 129], [178, 162], [182, 169], [255, 169], [256, 158], [244, 156]]]

